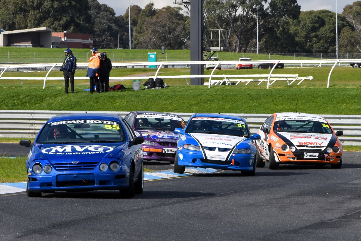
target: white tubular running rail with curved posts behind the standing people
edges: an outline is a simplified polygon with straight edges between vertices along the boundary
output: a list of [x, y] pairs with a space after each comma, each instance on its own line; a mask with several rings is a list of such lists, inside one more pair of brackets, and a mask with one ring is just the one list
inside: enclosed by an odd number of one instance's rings
[[[156, 65], [157, 66], [157, 71], [155, 76], [143, 76], [143, 79], [149, 79], [149, 78], [156, 78], [156, 77], [160, 77], [162, 79], [167, 79], [167, 78], [209, 78], [209, 84], [208, 84], [208, 88], [210, 88], [211, 82], [212, 82], [212, 78], [230, 78], [230, 77], [235, 77], [235, 78], [253, 78], [253, 79], [259, 79], [259, 78], [267, 78], [267, 89], [269, 89], [270, 87], [270, 78], [295, 78], [295, 77], [299, 77], [298, 74], [272, 74], [273, 70], [275, 69], [275, 67], [277, 66], [278, 63], [284, 63], [284, 64], [295, 64], [295, 63], [316, 63], [316, 64], [333, 64], [330, 73], [329, 73], [329, 77], [327, 79], [327, 88], [329, 88], [330, 86], [330, 77], [331, 77], [331, 73], [332, 70], [334, 70], [335, 66], [337, 64], [340, 63], [359, 63], [361, 60], [359, 59], [338, 59], [338, 60], [262, 60], [262, 61], [213, 61], [212, 63], [214, 65], [216, 65], [216, 67], [213, 69], [212, 73], [210, 75], [205, 74], [205, 75], [180, 75], [180, 76], [160, 76], [158, 75], [159, 70], [162, 67], [168, 66], [168, 65], [192, 65], [192, 64], [197, 64], [197, 65], [205, 65], [205, 64], [209, 64], [209, 62], [211, 61], [166, 61], [166, 62], [134, 62], [134, 63], [112, 63], [112, 66], [116, 67], [116, 66], [129, 66], [129, 67], [134, 67], [134, 66], [149, 66], [149, 65]], [[261, 64], [261, 63], [275, 63], [275, 65], [273, 66], [273, 68], [270, 70], [269, 74], [214, 74], [214, 71], [216, 70], [218, 65], [223, 65], [223, 64]], [[55, 67], [60, 67], [62, 65], [62, 63], [56, 63], [56, 64], [17, 64], [17, 65], [3, 65], [2, 67], [0, 66], [0, 69], [3, 69], [3, 71], [0, 74], [0, 79], [34, 79], [34, 80], [44, 80], [44, 85], [43, 85], [43, 89], [45, 89], [45, 83], [47, 80], [63, 80], [62, 77], [48, 77], [49, 73], [51, 72], [51, 70], [53, 70]], [[77, 66], [81, 66], [81, 67], [86, 67], [88, 66], [87, 63], [77, 63]], [[50, 70], [47, 72], [45, 77], [2, 77], [2, 75], [4, 74], [4, 72], [8, 69], [18, 69], [18, 68], [36, 68], [36, 67], [50, 67]], [[88, 77], [75, 77], [74, 79], [89, 79]], [[110, 77], [109, 79], [117, 79], [117, 80], [131, 80], [131, 79], [139, 79], [139, 77]], [[187, 79], [186, 79], [187, 81]], [[188, 81], [187, 81], [188, 83]]]

